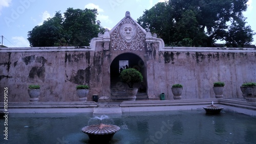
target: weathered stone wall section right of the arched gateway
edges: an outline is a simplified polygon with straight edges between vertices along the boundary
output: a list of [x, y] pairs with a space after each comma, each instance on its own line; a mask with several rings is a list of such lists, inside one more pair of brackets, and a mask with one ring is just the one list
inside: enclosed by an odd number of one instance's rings
[[225, 82], [224, 98], [242, 98], [240, 86], [244, 82], [256, 81], [255, 50], [248, 52], [248, 50], [223, 51], [216, 48], [203, 50], [204, 48], [200, 49], [200, 47], [193, 49], [182, 51], [184, 50], [182, 47], [176, 47], [156, 55], [154, 61], [156, 95], [164, 92], [167, 99], [173, 99], [171, 87], [180, 83], [183, 85], [182, 99], [215, 98], [213, 83], [223, 81]]

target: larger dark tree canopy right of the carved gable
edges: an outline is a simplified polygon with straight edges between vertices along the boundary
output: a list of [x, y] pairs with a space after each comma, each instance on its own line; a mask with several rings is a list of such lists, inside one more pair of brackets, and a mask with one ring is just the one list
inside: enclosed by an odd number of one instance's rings
[[137, 21], [167, 45], [212, 46], [216, 40], [225, 40], [227, 46], [244, 46], [255, 34], [243, 16], [247, 1], [169, 0], [145, 10]]

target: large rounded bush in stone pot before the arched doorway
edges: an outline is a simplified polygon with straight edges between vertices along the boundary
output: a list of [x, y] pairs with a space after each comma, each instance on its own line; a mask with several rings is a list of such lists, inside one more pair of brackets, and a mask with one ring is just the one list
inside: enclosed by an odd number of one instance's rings
[[126, 89], [128, 100], [135, 101], [138, 88], [134, 88], [134, 83], [142, 82], [143, 76], [135, 68], [126, 68], [120, 74], [121, 81], [126, 83], [129, 88]]

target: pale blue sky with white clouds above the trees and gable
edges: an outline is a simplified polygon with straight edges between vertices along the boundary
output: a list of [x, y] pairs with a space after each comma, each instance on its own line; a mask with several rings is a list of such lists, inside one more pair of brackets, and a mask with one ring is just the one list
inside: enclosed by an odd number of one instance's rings
[[[56, 11], [63, 13], [69, 7], [97, 8], [101, 26], [112, 29], [126, 11], [130, 11], [133, 19], [137, 20], [145, 9], [152, 8], [158, 2], [164, 0], [0, 0], [0, 36], [4, 36], [3, 44], [8, 47], [29, 47], [28, 31], [53, 17]], [[256, 32], [256, 0], [249, 0], [248, 5], [244, 15], [248, 25]], [[256, 44], [256, 36], [253, 38], [252, 44]]]

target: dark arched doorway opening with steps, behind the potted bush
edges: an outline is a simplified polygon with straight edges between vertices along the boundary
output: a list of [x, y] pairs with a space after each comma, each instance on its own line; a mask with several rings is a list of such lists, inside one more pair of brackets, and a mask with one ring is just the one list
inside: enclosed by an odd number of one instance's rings
[[127, 67], [138, 69], [142, 76], [143, 82], [134, 85], [138, 88], [137, 99], [147, 99], [146, 94], [146, 66], [143, 60], [133, 53], [124, 53], [117, 56], [110, 65], [110, 82], [111, 82], [111, 99], [112, 100], [125, 100], [127, 96], [125, 95], [125, 89], [128, 87], [126, 83], [121, 82], [119, 75], [122, 69]]

